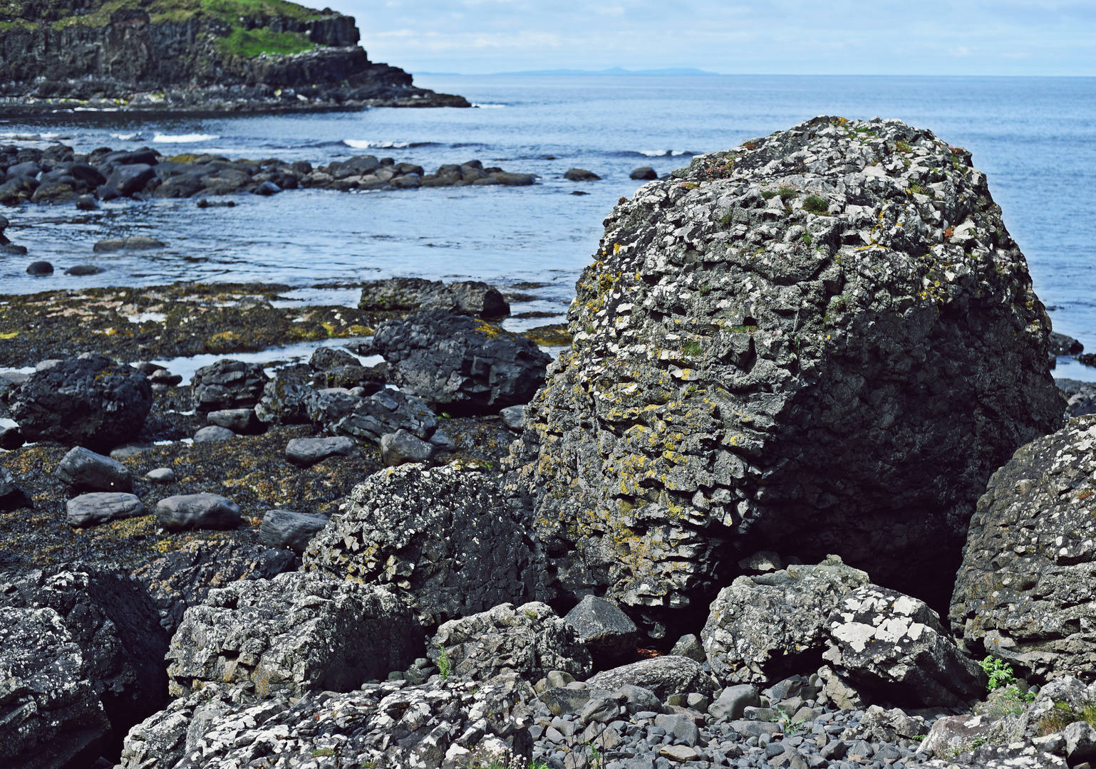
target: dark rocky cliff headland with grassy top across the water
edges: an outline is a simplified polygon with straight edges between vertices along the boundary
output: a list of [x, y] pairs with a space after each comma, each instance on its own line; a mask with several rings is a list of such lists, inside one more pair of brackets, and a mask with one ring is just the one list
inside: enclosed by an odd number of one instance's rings
[[369, 61], [353, 16], [281, 0], [45, 0], [0, 11], [0, 111], [469, 106]]

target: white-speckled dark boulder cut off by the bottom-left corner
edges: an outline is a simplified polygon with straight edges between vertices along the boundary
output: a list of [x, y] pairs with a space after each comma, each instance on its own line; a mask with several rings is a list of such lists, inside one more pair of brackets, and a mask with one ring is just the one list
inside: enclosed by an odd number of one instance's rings
[[90, 766], [106, 747], [111, 722], [65, 620], [49, 608], [0, 607], [0, 762]]

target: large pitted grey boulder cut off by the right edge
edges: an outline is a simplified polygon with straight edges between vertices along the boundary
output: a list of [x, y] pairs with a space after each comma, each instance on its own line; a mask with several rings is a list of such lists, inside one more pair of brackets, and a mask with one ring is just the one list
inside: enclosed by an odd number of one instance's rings
[[990, 479], [949, 615], [975, 656], [1004, 657], [1038, 680], [1096, 674], [1094, 447], [1096, 415], [1076, 417]]

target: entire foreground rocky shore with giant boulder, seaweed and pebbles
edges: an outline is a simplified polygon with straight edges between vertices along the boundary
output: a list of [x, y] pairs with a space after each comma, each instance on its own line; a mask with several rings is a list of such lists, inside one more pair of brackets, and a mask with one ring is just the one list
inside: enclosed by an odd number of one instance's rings
[[1096, 393], [969, 154], [819, 117], [605, 227], [555, 360], [475, 282], [0, 297], [0, 757], [1088, 769]]

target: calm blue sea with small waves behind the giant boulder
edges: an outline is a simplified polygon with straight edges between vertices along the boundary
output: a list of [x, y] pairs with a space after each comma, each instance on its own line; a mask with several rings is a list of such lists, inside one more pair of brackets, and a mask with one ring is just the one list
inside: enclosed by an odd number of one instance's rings
[[[58, 272], [31, 278], [28, 257], [2, 256], [2, 291], [262, 280], [298, 286], [297, 296], [308, 301], [324, 298], [307, 290], [317, 284], [414, 275], [545, 284], [527, 290], [538, 300], [520, 309], [562, 314], [602, 219], [639, 185], [629, 179], [633, 168], [667, 173], [694, 153], [820, 114], [878, 115], [931, 128], [973, 152], [1055, 330], [1096, 352], [1096, 79], [422, 76], [415, 82], [459, 93], [478, 107], [169, 119], [59, 113], [0, 123], [0, 141], [60, 140], [78, 151], [149, 146], [169, 156], [214, 152], [313, 165], [370, 153], [427, 170], [478, 159], [539, 174], [539, 183], [239, 195], [235, 208], [115, 202], [85, 214], [71, 205], [24, 205], [0, 211], [11, 221], [7, 234]], [[564, 180], [573, 167], [602, 181]], [[168, 248], [92, 253], [96, 240], [126, 234], [149, 234]], [[106, 272], [60, 274], [85, 263]], [[529, 321], [544, 322], [551, 321]], [[1096, 380], [1096, 369], [1063, 359], [1055, 376]]]

